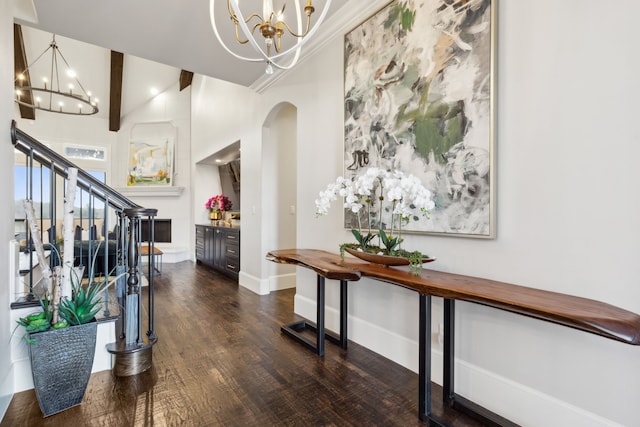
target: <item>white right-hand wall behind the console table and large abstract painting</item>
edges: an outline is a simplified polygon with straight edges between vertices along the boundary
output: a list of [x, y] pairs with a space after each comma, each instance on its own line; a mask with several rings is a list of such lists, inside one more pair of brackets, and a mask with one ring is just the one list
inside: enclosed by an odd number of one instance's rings
[[[640, 196], [634, 186], [640, 57], [633, 30], [640, 4], [512, 0], [499, 6], [497, 238], [407, 236], [406, 247], [435, 256], [429, 268], [640, 312]], [[216, 121], [223, 140], [242, 140], [245, 210], [260, 206], [259, 195], [248, 193], [260, 188], [253, 153], [262, 150], [264, 118], [280, 102], [297, 108], [298, 247], [337, 251], [350, 240], [338, 206], [314, 218], [318, 191], [342, 174], [342, 59], [338, 38], [259, 96], [260, 107], [243, 116], [246, 121], [222, 111]], [[216, 102], [250, 109], [245, 102], [255, 95], [244, 94], [232, 90]], [[243, 233], [248, 217], [243, 213]], [[242, 270], [259, 282], [264, 254], [245, 256], [245, 243]], [[327, 297], [327, 323], [334, 329], [336, 288], [329, 285]], [[295, 311], [313, 318], [314, 301], [314, 275], [301, 269]], [[415, 370], [417, 308], [410, 291], [370, 280], [352, 284], [350, 338]], [[440, 316], [436, 301], [434, 329]], [[457, 348], [457, 391], [519, 424], [637, 425], [640, 348], [462, 303]], [[434, 356], [436, 369], [437, 346]]]

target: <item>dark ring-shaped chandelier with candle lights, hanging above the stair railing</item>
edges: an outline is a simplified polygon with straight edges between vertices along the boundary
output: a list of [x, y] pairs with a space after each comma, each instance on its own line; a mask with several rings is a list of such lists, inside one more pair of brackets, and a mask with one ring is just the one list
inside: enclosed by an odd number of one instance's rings
[[[29, 70], [33, 69], [34, 65], [49, 51], [51, 51], [51, 64], [48, 66], [50, 74], [48, 77], [42, 78], [42, 87], [27, 84], [31, 80]], [[60, 61], [62, 64], [59, 64]], [[66, 67], [64, 74], [60, 74], [58, 71], [59, 65]], [[64, 84], [67, 82], [69, 83], [65, 88]], [[14, 85], [16, 102], [29, 108], [76, 116], [89, 116], [98, 112], [98, 99], [92, 98], [91, 92], [87, 92], [78, 80], [76, 72], [60, 51], [55, 34], [49, 47], [25, 70], [17, 74]], [[35, 96], [27, 96], [28, 93]]]

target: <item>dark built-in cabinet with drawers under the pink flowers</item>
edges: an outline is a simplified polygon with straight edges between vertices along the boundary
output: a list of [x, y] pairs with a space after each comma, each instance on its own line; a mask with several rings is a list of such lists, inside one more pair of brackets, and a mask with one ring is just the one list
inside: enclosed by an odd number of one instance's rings
[[196, 225], [196, 262], [238, 280], [240, 229]]

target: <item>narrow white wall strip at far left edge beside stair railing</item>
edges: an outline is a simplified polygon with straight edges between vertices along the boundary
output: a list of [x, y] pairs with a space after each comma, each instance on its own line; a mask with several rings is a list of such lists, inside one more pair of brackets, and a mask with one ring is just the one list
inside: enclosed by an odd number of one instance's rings
[[[8, 198], [13, 188], [13, 146], [9, 129], [13, 118], [13, 5], [14, 2], [0, 2], [0, 170], [3, 182], [3, 198]], [[10, 322], [9, 292], [13, 269], [9, 265], [9, 241], [13, 238], [13, 203], [0, 203], [0, 272], [3, 285], [0, 286], [0, 342], [9, 342], [13, 325]], [[13, 367], [11, 354], [0, 351], [0, 419], [13, 396]]]

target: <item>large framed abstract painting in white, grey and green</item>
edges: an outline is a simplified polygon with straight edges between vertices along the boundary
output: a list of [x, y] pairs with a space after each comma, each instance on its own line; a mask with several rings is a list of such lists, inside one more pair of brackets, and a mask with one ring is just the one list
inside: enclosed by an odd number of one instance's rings
[[436, 207], [404, 231], [495, 235], [494, 16], [495, 0], [394, 1], [345, 36], [345, 177], [418, 177]]

